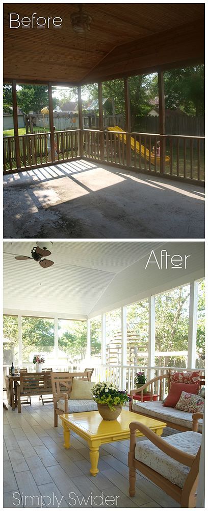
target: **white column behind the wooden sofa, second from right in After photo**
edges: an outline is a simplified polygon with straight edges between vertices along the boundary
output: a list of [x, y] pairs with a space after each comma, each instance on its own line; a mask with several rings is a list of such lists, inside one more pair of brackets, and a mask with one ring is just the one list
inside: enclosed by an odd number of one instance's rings
[[[155, 354], [155, 297], [150, 296], [149, 302], [149, 338], [148, 338], [148, 367], [154, 367]], [[148, 369], [147, 379], [154, 378], [154, 369]]]

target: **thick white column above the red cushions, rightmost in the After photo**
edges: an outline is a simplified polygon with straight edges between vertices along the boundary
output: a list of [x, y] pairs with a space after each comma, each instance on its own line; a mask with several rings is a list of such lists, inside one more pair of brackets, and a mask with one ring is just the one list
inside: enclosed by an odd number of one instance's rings
[[189, 333], [188, 333], [188, 368], [194, 369], [196, 365], [196, 330], [198, 309], [198, 282], [190, 283], [189, 299]]

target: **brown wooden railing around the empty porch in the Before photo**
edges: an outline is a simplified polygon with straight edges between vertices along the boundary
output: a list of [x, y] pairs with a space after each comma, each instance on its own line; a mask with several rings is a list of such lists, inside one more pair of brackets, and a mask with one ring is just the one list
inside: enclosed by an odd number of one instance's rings
[[[67, 161], [80, 154], [84, 157], [121, 167], [130, 167], [151, 174], [183, 178], [187, 182], [204, 182], [204, 137], [127, 133], [124, 131], [67, 130], [56, 131], [55, 161]], [[19, 139], [20, 169], [48, 164], [50, 133], [21, 135]], [[158, 142], [165, 146], [161, 168]], [[4, 172], [17, 169], [15, 137], [4, 137]]]

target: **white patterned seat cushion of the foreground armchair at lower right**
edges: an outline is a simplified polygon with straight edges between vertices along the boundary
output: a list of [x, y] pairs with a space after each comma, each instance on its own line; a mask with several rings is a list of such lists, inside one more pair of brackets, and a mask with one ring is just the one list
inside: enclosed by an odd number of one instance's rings
[[[163, 438], [163, 440], [176, 449], [196, 455], [201, 445], [201, 434], [195, 433], [194, 431], [185, 431], [184, 433], [170, 435]], [[161, 474], [173, 484], [177, 484], [180, 488], [184, 487], [190, 468], [165, 454], [152, 444], [150, 440], [137, 442], [135, 458], [155, 470], [158, 474]]]

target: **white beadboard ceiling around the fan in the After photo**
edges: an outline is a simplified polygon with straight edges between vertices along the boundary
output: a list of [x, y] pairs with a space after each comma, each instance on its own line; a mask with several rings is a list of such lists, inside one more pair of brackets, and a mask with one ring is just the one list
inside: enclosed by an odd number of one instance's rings
[[4, 243], [4, 308], [88, 315], [115, 275], [145, 257], [162, 242], [54, 242], [43, 269], [31, 255], [36, 241]]

